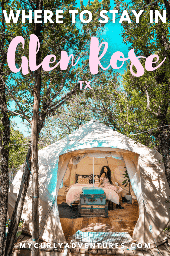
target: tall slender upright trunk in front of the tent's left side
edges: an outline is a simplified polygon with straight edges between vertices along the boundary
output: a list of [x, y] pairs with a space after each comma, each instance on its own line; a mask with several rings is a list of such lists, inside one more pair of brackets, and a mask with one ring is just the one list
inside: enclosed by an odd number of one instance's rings
[[[43, 0], [36, 1], [36, 9], [41, 11], [43, 8]], [[41, 24], [35, 23], [34, 35], [41, 42]], [[36, 65], [41, 63], [40, 49], [36, 54]], [[41, 91], [41, 67], [34, 71], [34, 101], [33, 114], [31, 122], [31, 173], [32, 173], [32, 256], [38, 256], [38, 234], [39, 234], [39, 218], [38, 218], [38, 123], [40, 118], [40, 91]]]

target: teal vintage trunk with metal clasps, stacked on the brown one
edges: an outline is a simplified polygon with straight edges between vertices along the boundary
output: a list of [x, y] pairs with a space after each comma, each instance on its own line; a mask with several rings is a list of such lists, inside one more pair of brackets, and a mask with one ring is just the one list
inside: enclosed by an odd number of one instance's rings
[[107, 205], [106, 204], [106, 193], [103, 195], [83, 195], [80, 194], [80, 205]]

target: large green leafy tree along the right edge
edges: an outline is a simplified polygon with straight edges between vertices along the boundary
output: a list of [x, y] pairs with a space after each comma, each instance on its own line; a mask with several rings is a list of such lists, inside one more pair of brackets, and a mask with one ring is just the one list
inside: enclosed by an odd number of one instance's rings
[[[146, 129], [150, 127], [157, 128], [154, 131], [148, 132], [147, 136], [155, 137], [157, 149], [162, 154], [165, 176], [170, 188], [170, 130], [168, 126], [170, 102], [170, 21], [169, 16], [165, 24], [163, 24], [160, 19], [158, 23], [156, 23], [155, 20], [156, 11], [162, 12], [168, 8], [168, 5], [165, 3], [164, 6], [163, 1], [153, 4], [151, 1], [145, 1], [144, 3], [149, 6], [142, 8], [143, 2], [140, 1], [135, 1], [132, 5], [122, 1], [115, 2], [116, 9], [119, 8], [120, 13], [123, 12], [123, 9], [126, 9], [129, 14], [132, 13], [132, 10], [145, 9], [140, 16], [140, 24], [136, 23], [136, 18], [132, 14], [130, 15], [132, 23], [122, 23], [122, 38], [125, 43], [128, 42], [130, 44], [129, 50], [134, 48], [137, 56], [148, 57], [151, 54], [157, 54], [159, 61], [153, 64], [153, 67], [161, 63], [164, 58], [166, 58], [166, 60], [158, 69], [152, 72], [145, 70], [145, 74], [142, 77], [132, 76], [129, 71], [129, 66], [127, 67], [127, 72], [125, 72], [123, 76], [123, 83], [127, 93], [128, 108], [131, 117], [128, 118], [128, 120], [126, 117], [125, 120], [134, 125], [137, 123], [146, 124]], [[149, 21], [150, 10], [153, 11], [153, 23]], [[167, 9], [167, 14], [168, 13], [169, 10]], [[144, 66], [145, 61], [143, 59], [140, 59], [140, 61]]]

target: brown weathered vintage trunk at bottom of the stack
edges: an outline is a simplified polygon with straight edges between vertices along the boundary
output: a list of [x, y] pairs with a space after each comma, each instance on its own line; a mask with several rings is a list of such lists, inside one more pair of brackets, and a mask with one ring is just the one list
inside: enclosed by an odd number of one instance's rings
[[80, 205], [78, 204], [80, 217], [103, 217], [108, 218], [108, 205]]

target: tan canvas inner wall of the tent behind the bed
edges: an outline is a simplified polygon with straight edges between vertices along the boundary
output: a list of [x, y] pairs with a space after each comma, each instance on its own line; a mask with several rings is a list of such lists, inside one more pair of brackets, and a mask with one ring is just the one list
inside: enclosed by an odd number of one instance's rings
[[[100, 157], [100, 154], [102, 154], [101, 157]], [[100, 170], [104, 165], [109, 166], [111, 170], [112, 180], [114, 182], [117, 182], [118, 185], [123, 188], [123, 193], [124, 194], [129, 193], [128, 186], [126, 187], [122, 186], [122, 183], [124, 182], [123, 174], [125, 173], [126, 168], [128, 171], [129, 164], [127, 167], [125, 164], [125, 161], [123, 160], [122, 153], [112, 152], [111, 153], [112, 156], [109, 154], [110, 152], [98, 152], [98, 153], [95, 152], [95, 153], [86, 153], [86, 154], [77, 153], [76, 155], [72, 154], [67, 166], [65, 176], [63, 177], [63, 187], [59, 190], [58, 196], [64, 196], [66, 186], [68, 187], [75, 184], [76, 175], [92, 175], [93, 169], [94, 169], [94, 175], [99, 175]], [[132, 162], [132, 165], [134, 166], [133, 171], [137, 173], [136, 167], [138, 166], [138, 155], [137, 154], [131, 154], [131, 155], [135, 155], [133, 157], [135, 164]], [[94, 164], [93, 164], [93, 159], [94, 159]], [[132, 169], [132, 166], [130, 166], [130, 172], [132, 172], [131, 169]], [[131, 192], [132, 192], [132, 186], [130, 184], [130, 193]]]

